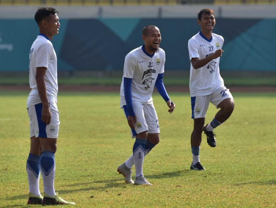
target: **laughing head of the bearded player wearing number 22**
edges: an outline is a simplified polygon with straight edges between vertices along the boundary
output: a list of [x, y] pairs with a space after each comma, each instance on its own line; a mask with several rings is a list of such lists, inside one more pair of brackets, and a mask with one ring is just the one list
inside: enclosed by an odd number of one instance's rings
[[157, 27], [150, 27], [147, 34], [142, 35], [142, 38], [144, 40], [146, 50], [148, 49], [151, 52], [158, 51], [161, 42], [161, 34]]

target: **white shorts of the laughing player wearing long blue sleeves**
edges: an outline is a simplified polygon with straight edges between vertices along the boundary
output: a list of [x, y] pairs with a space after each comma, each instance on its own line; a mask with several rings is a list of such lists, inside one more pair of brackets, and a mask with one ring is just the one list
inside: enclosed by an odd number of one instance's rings
[[[148, 131], [149, 134], [160, 133], [158, 117], [153, 104], [133, 103], [133, 111], [136, 115], [137, 124], [131, 130], [132, 138], [141, 132]], [[123, 106], [123, 112], [127, 117], [127, 106]]]

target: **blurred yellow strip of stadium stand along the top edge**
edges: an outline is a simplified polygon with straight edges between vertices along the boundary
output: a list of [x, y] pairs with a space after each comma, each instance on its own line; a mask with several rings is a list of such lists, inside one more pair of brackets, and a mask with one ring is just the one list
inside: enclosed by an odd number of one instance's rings
[[0, 5], [276, 4], [276, 0], [0, 0]]

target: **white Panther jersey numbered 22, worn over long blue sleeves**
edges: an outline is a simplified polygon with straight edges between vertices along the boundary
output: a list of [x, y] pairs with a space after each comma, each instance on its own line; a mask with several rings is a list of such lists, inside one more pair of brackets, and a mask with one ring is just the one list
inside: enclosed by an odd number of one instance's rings
[[[143, 46], [132, 50], [125, 56], [123, 77], [132, 78], [132, 103], [152, 104], [156, 78], [164, 73], [165, 51], [160, 49], [150, 55]], [[121, 83], [121, 108], [126, 105], [123, 81]]]

